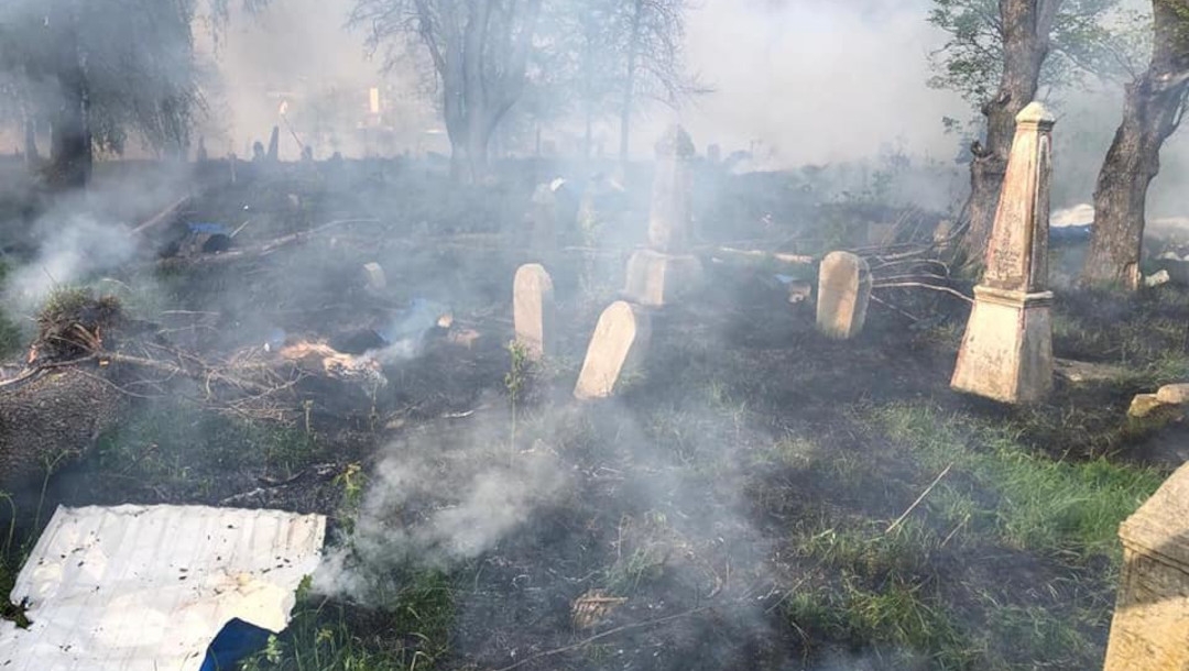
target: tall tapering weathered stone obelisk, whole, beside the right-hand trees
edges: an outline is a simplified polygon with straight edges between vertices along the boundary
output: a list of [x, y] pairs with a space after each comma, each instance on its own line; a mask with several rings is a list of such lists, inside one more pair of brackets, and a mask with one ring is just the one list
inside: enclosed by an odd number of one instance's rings
[[1049, 177], [1053, 118], [1039, 102], [1015, 118], [1015, 139], [974, 289], [951, 386], [1005, 403], [1052, 390], [1052, 292], [1049, 284]]

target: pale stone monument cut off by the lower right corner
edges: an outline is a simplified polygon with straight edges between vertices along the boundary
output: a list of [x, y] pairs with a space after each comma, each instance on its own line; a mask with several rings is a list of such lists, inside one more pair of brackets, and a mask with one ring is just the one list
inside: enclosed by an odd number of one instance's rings
[[1189, 669], [1189, 466], [1119, 528], [1122, 574], [1106, 671]]

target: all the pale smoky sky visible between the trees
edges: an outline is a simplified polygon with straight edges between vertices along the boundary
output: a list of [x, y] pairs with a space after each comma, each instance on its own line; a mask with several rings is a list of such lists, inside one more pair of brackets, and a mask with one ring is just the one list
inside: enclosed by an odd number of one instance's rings
[[[1131, 1], [1131, 0], [1127, 0]], [[699, 151], [718, 144], [724, 156], [759, 148], [762, 169], [862, 160], [882, 148], [916, 157], [952, 160], [958, 138], [946, 134], [945, 116], [968, 120], [970, 107], [956, 94], [930, 89], [929, 55], [945, 36], [926, 21], [931, 0], [691, 0], [686, 57], [713, 91], [675, 113], [654, 109], [635, 124], [633, 153], [648, 158], [665, 126], [680, 121]], [[213, 154], [250, 153], [251, 143], [266, 141], [278, 124], [277, 101], [262, 87], [313, 87], [334, 82], [356, 91], [353, 103], [366, 108], [367, 88], [377, 86], [377, 58], [369, 58], [361, 31], [346, 31], [353, 0], [284, 0], [257, 18], [233, 23], [220, 51], [226, 82], [222, 96], [212, 96]], [[405, 68], [386, 75], [395, 83], [386, 109], [400, 108], [405, 134], [401, 141], [447, 152], [433, 109], [413, 94], [417, 77]], [[1057, 109], [1055, 151], [1061, 171], [1062, 203], [1088, 202], [1102, 157], [1119, 124], [1122, 87], [1063, 94]], [[404, 91], [404, 93], [401, 93]], [[547, 128], [547, 139], [562, 140], [565, 128]], [[570, 128], [571, 146], [579, 128]], [[1187, 133], [1168, 145], [1164, 172], [1153, 184], [1157, 210], [1189, 209], [1176, 186], [1189, 176]], [[429, 138], [427, 140], [427, 138]], [[598, 129], [605, 151], [617, 146], [614, 120]], [[359, 153], [359, 138], [341, 138], [348, 156]], [[756, 145], [756, 143], [760, 143]], [[282, 133], [282, 158], [296, 159], [298, 145]], [[325, 158], [326, 153], [320, 154]]]

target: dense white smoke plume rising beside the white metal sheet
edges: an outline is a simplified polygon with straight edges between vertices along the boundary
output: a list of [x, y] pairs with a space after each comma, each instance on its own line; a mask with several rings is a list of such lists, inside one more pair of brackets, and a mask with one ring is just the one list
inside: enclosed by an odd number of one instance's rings
[[383, 448], [347, 543], [326, 558], [315, 588], [366, 601], [377, 572], [473, 559], [559, 501], [571, 479], [561, 460], [540, 441], [509, 448], [507, 422], [443, 420]]

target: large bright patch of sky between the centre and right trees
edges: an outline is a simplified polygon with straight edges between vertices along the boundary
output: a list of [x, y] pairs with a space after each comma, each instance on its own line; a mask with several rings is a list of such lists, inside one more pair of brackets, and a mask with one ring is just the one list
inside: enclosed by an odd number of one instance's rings
[[956, 95], [926, 88], [944, 36], [927, 1], [703, 0], [688, 62], [716, 93], [682, 114], [694, 140], [747, 148], [762, 139], [787, 165], [874, 156], [881, 144], [950, 158], [943, 116]]

